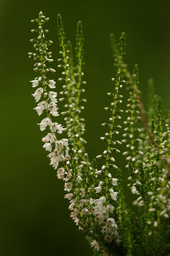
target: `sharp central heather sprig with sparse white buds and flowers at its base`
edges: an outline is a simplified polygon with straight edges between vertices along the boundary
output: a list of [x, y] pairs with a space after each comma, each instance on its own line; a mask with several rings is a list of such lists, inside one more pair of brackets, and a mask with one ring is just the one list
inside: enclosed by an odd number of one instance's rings
[[[124, 47], [125, 47], [125, 38], [121, 38], [120, 41], [120, 52], [122, 58], [124, 57]], [[103, 223], [103, 229], [102, 232], [106, 233], [105, 235], [105, 241], [110, 244], [113, 240], [116, 241], [116, 244], [118, 245], [120, 243], [120, 240], [118, 238], [117, 233], [117, 225], [115, 223], [115, 220], [113, 217], [113, 201], [117, 200], [117, 194], [118, 192], [114, 192], [113, 186], [117, 185], [117, 178], [112, 178], [111, 173], [109, 173], [109, 167], [112, 167], [114, 169], [117, 169], [118, 167], [114, 165], [113, 163], [110, 163], [110, 161], [114, 162], [115, 159], [111, 155], [112, 152], [119, 153], [120, 150], [114, 147], [114, 145], [121, 144], [118, 140], [113, 140], [113, 136], [117, 135], [118, 129], [121, 128], [121, 126], [115, 122], [119, 120], [121, 117], [119, 116], [119, 113], [122, 113], [123, 111], [121, 109], [118, 109], [117, 106], [119, 103], [122, 102], [121, 98], [122, 95], [119, 94], [119, 90], [122, 88], [122, 83], [125, 83], [124, 80], [121, 79], [121, 67], [117, 64], [115, 65], [116, 68], [116, 78], [112, 78], [112, 81], [115, 84], [115, 91], [114, 93], [107, 93], [107, 95], [113, 97], [113, 102], [111, 103], [111, 108], [106, 107], [105, 110], [111, 112], [111, 117], [109, 119], [109, 123], [103, 123], [102, 126], [106, 126], [109, 128], [109, 132], [105, 134], [105, 137], [101, 137], [101, 140], [105, 141], [107, 143], [107, 148], [103, 152], [103, 154], [98, 155], [97, 158], [105, 158], [106, 164], [102, 166], [101, 170], [95, 172], [97, 175], [101, 175], [102, 180], [99, 182], [98, 187], [95, 187], [96, 193], [105, 194], [105, 196], [100, 197], [97, 199], [97, 204], [92, 208], [93, 214], [95, 215], [96, 221], [101, 225]], [[111, 187], [110, 187], [111, 185]], [[110, 197], [109, 197], [110, 195]], [[115, 215], [116, 213], [114, 213]], [[109, 218], [109, 216], [111, 218]], [[116, 216], [116, 215], [115, 215]], [[98, 241], [98, 240], [95, 240]], [[95, 242], [94, 241], [94, 242]], [[113, 242], [114, 244], [114, 242]]]

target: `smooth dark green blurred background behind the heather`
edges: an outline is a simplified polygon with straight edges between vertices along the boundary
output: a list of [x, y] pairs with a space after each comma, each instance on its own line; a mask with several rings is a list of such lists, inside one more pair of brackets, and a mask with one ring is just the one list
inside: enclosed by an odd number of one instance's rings
[[[132, 72], [139, 65], [140, 90], [146, 103], [147, 79], [155, 80], [156, 93], [169, 108], [170, 94], [170, 1], [98, 0], [98, 1], [21, 1], [0, 0], [1, 19], [1, 178], [0, 178], [0, 255], [1, 256], [91, 256], [92, 250], [69, 217], [68, 200], [64, 199], [63, 182], [49, 166], [42, 148], [37, 123], [42, 120], [33, 108], [30, 80], [37, 75], [34, 61], [27, 52], [34, 50], [30, 38], [34, 29], [31, 19], [42, 11], [50, 17], [47, 38], [56, 68], [60, 57], [56, 17], [63, 19], [67, 39], [75, 44], [76, 24], [83, 22], [84, 60], [86, 62], [85, 98], [82, 112], [86, 119], [86, 150], [90, 159], [105, 149], [99, 139], [107, 121], [104, 107], [109, 106], [106, 93], [112, 90], [114, 61], [109, 34], [117, 41], [126, 33], [126, 58]], [[58, 80], [61, 69], [51, 73]], [[62, 83], [58, 82], [60, 91]], [[124, 106], [126, 105], [126, 97]], [[60, 108], [62, 109], [62, 108]], [[44, 117], [43, 117], [44, 118]], [[62, 116], [58, 123], [63, 123]], [[117, 160], [124, 174], [126, 201], [134, 198], [126, 187], [128, 177], [124, 159]], [[98, 161], [100, 168], [102, 162]]]

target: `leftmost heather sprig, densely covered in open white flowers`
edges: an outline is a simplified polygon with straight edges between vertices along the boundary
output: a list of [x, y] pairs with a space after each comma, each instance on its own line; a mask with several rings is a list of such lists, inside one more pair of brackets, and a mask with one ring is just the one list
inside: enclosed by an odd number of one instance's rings
[[[32, 20], [32, 22], [38, 23], [38, 29], [32, 30], [32, 32], [38, 33], [38, 37], [36, 39], [31, 39], [31, 42], [36, 43], [34, 47], [36, 47], [38, 53], [29, 53], [29, 56], [34, 58], [34, 60], [39, 60], [39, 62], [34, 65], [36, 67], [34, 70], [39, 71], [40, 76], [31, 82], [33, 87], [38, 85], [42, 86], [33, 94], [36, 102], [42, 99], [35, 109], [39, 115], [43, 112], [46, 112], [47, 114], [47, 117], [45, 117], [39, 124], [41, 131], [44, 131], [47, 127], [51, 130], [48, 135], [42, 138], [42, 141], [45, 142], [43, 147], [50, 152], [52, 151], [52, 148], [55, 147], [54, 151], [48, 155], [51, 162], [50, 164], [53, 165], [54, 169], [58, 168], [60, 162], [63, 163], [63, 167], [57, 169], [57, 177], [65, 181], [64, 190], [71, 192], [65, 195], [65, 198], [71, 200], [71, 206], [69, 207], [73, 210], [71, 217], [76, 224], [79, 225], [79, 228], [87, 229], [84, 223], [86, 219], [84, 220], [83, 216], [85, 216], [88, 210], [82, 207], [86, 200], [83, 199], [84, 192], [80, 186], [82, 174], [75, 170], [76, 159], [73, 159], [72, 144], [70, 142], [68, 144], [68, 139], [57, 140], [57, 133], [61, 134], [64, 128], [61, 124], [52, 121], [52, 118], [57, 117], [59, 114], [57, 112], [58, 108], [56, 104], [57, 93], [50, 91], [50, 89], [56, 87], [56, 82], [46, 78], [46, 72], [55, 72], [52, 68], [46, 68], [46, 62], [52, 61], [52, 59], [50, 59], [51, 52], [47, 52], [47, 46], [52, 44], [52, 41], [49, 42], [45, 40], [44, 31], [46, 33], [48, 31], [43, 30], [43, 25], [47, 20], [48, 18], [45, 18], [42, 12], [39, 13], [38, 19]], [[71, 156], [69, 156], [69, 154], [71, 154]], [[77, 217], [77, 214], [79, 214], [79, 218]]]

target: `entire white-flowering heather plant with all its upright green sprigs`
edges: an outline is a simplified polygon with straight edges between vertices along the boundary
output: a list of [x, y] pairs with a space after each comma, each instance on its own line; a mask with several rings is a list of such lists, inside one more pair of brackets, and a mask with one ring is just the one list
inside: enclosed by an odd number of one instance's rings
[[[30, 40], [35, 53], [29, 53], [29, 57], [36, 61], [34, 71], [38, 75], [30, 82], [38, 87], [33, 94], [38, 102], [35, 110], [43, 116], [38, 125], [41, 131], [48, 132], [42, 138], [43, 147], [49, 151], [50, 165], [57, 170], [58, 179], [64, 181], [71, 218], [85, 234], [94, 255], [170, 255], [170, 112], [155, 95], [152, 79], [148, 80], [148, 105], [144, 111], [138, 67], [135, 65], [131, 75], [124, 62], [125, 33], [121, 34], [118, 45], [111, 34], [116, 76], [107, 93], [111, 104], [105, 110], [110, 118], [103, 120], [102, 126], [107, 131], [100, 138], [103, 152], [96, 157], [103, 158], [105, 163], [98, 170], [96, 159], [91, 161], [84, 147], [82, 110], [86, 102], [83, 98], [86, 81], [83, 80], [82, 23], [78, 22], [73, 51], [71, 42], [66, 41], [61, 16], [57, 16], [61, 48], [58, 58], [61, 78], [58, 80], [63, 83], [58, 101], [64, 102], [65, 108], [60, 113], [64, 116], [61, 125], [56, 122], [59, 115], [53, 80], [56, 70], [49, 67], [53, 61], [52, 52], [48, 51], [52, 41], [45, 38], [48, 30], [44, 23], [48, 19], [39, 12], [38, 19], [31, 20], [37, 28], [31, 30], [36, 33]], [[125, 109], [121, 107], [123, 86], [129, 95]], [[119, 121], [123, 112], [127, 117], [121, 127]], [[126, 145], [125, 152], [121, 150], [122, 143]], [[133, 204], [140, 207], [139, 216], [128, 210], [125, 203], [117, 154], [121, 154], [128, 169], [128, 186], [136, 195]]]

